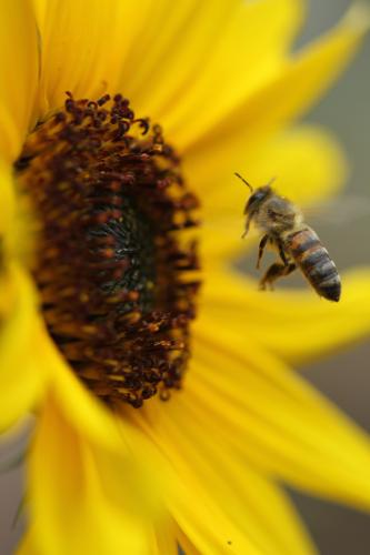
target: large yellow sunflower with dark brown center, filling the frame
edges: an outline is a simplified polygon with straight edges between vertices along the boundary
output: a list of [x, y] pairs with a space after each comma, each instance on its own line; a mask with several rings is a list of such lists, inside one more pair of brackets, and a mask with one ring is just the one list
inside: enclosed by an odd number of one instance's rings
[[293, 121], [367, 17], [289, 53], [298, 0], [2, 6], [0, 426], [32, 414], [24, 554], [309, 554], [280, 482], [370, 507], [367, 436], [290, 364], [366, 335], [234, 261], [236, 170], [304, 204], [346, 164]]

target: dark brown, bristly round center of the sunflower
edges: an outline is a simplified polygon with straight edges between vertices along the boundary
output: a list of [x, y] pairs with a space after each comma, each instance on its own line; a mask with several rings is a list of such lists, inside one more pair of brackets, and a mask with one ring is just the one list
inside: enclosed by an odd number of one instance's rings
[[74, 100], [16, 163], [39, 222], [33, 275], [49, 333], [106, 402], [179, 389], [199, 287], [197, 198], [161, 129], [117, 94]]

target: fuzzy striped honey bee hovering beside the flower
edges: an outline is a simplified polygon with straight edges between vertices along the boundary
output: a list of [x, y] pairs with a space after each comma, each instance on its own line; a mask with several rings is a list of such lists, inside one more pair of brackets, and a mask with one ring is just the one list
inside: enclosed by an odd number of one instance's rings
[[267, 270], [260, 287], [264, 290], [269, 285], [272, 289], [276, 280], [299, 268], [320, 296], [338, 302], [341, 284], [336, 264], [317, 233], [304, 223], [301, 211], [273, 191], [272, 181], [253, 190], [239, 173], [236, 175], [251, 190], [243, 212], [246, 230], [242, 236], [247, 235], [251, 222], [263, 232], [257, 268], [260, 266], [268, 243], [277, 249], [281, 259], [281, 262], [274, 262]]

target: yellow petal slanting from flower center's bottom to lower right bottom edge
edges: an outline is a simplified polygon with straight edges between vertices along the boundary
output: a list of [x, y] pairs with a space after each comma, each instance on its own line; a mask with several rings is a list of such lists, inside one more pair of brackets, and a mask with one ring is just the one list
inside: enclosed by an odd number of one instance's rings
[[[193, 402], [198, 405], [196, 411], [192, 408]], [[207, 412], [207, 407], [204, 411]], [[203, 407], [199, 400], [193, 398], [191, 392], [186, 389], [182, 393], [174, 394], [166, 408], [159, 407], [156, 414], [149, 410], [148, 416], [149, 433], [176, 468], [178, 482], [186, 482], [188, 490], [193, 493], [193, 498], [197, 498], [197, 504], [203, 507], [202, 514], [199, 513], [202, 525], [211, 527], [211, 522], [208, 524], [208, 521], [212, 518], [213, 506], [210, 500], [213, 500], [213, 505], [224, 513], [238, 527], [239, 533], [260, 553], [314, 553], [282, 491], [241, 461], [230, 448], [229, 442], [218, 433], [209, 435], [208, 430], [203, 427], [202, 413]], [[209, 417], [207, 414], [204, 416], [206, 420]], [[180, 497], [183, 493], [176, 491], [174, 495]], [[180, 524], [188, 503], [191, 508], [188, 497], [181, 500], [181, 503], [176, 502], [174, 511], [180, 513]], [[173, 505], [173, 500], [170, 504]], [[194, 536], [191, 539], [194, 542]], [[238, 544], [238, 537], [233, 537], [231, 532], [224, 539], [224, 549], [246, 553]], [[196, 545], [204, 553], [203, 545]], [[222, 544], [217, 553], [219, 552], [222, 553]]]

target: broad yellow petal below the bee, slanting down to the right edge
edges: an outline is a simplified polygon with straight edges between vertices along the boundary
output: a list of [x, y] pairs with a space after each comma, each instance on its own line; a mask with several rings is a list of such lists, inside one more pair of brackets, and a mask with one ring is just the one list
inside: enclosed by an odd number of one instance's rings
[[186, 384], [207, 435], [226, 437], [246, 463], [310, 493], [370, 508], [370, 442], [281, 362], [232, 329], [198, 332]]

